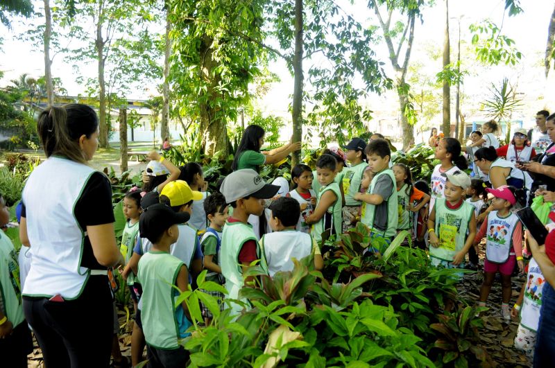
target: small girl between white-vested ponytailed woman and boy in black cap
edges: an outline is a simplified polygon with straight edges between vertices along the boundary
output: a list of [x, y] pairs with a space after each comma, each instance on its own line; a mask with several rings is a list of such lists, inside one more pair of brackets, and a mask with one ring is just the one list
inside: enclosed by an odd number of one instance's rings
[[127, 279], [127, 285], [131, 291], [131, 299], [133, 299], [133, 306], [137, 312], [137, 302], [141, 297], [141, 285], [135, 281], [135, 274], [131, 272], [129, 260], [133, 256], [133, 247], [139, 235], [139, 217], [141, 216], [141, 190], [134, 186], [126, 193], [123, 198], [123, 215], [127, 218], [126, 226], [123, 227], [123, 234], [121, 235], [121, 245], [119, 250], [123, 257], [126, 259], [126, 268], [121, 273], [124, 279]]

